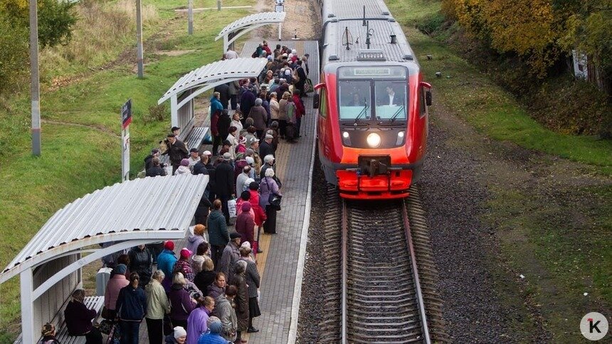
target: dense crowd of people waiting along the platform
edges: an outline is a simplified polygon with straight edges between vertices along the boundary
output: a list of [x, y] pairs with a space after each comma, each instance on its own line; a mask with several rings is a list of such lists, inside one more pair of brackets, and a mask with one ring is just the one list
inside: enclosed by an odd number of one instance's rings
[[[223, 54], [223, 59], [237, 57], [230, 49]], [[167, 241], [104, 257], [112, 268], [102, 309], [110, 329], [93, 326], [97, 314], [85, 306], [85, 291], [78, 289], [65, 308], [71, 335], [98, 344], [102, 332], [109, 332], [117, 343], [139, 343], [143, 320], [149, 343], [246, 343], [243, 333], [258, 332], [253, 326], [261, 314], [255, 258], [262, 252], [262, 230], [276, 233], [282, 198], [275, 155], [280, 140], [300, 137], [302, 97], [312, 85], [307, 54], [300, 57], [281, 45], [270, 50], [263, 41], [253, 57], [268, 58], [259, 77], [219, 85], [213, 92], [211, 151], [188, 150], [179, 139], [181, 128], [172, 127], [144, 160], [147, 176], [167, 176], [169, 166], [160, 159], [164, 154], [174, 176], [209, 176], [185, 247], [175, 254], [174, 242]], [[45, 324], [43, 343], [58, 343], [55, 334], [53, 325]]]

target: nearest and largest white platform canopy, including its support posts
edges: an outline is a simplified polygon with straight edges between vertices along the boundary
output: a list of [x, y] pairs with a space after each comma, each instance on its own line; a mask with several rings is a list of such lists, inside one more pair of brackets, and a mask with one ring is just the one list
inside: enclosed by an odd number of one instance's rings
[[[33, 323], [33, 301], [64, 277], [122, 249], [183, 239], [208, 181], [204, 175], [139, 178], [96, 190], [58, 210], [0, 273], [0, 283], [21, 275], [23, 343], [35, 343], [40, 326]], [[33, 269], [82, 253], [89, 254], [34, 289]]]

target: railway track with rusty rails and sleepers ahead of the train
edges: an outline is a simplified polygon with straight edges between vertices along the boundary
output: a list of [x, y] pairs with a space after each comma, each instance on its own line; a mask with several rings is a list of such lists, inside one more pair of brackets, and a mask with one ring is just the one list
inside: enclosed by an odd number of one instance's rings
[[347, 202], [328, 189], [323, 343], [448, 341], [416, 198]]

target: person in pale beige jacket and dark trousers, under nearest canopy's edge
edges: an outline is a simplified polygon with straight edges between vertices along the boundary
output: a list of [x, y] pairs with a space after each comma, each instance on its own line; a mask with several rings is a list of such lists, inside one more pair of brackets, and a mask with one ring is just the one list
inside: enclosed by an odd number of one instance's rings
[[162, 286], [164, 272], [155, 270], [152, 279], [144, 287], [144, 294], [147, 296], [147, 333], [149, 333], [150, 344], [161, 344], [164, 337], [164, 316], [170, 313], [170, 301]]

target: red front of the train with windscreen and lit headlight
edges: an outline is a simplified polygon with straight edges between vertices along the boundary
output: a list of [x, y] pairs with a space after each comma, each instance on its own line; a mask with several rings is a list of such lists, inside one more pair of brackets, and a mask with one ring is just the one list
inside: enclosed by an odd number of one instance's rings
[[327, 182], [344, 198], [407, 197], [421, 173], [431, 99], [418, 65], [334, 63], [323, 75], [318, 132]]

